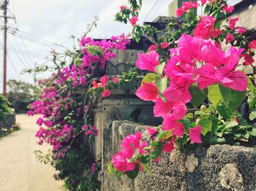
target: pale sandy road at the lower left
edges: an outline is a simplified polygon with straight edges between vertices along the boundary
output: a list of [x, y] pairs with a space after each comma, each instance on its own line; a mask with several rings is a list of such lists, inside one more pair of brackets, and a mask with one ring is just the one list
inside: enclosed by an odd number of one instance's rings
[[53, 179], [53, 168], [39, 163], [34, 155], [36, 149], [48, 149], [37, 145], [36, 119], [18, 114], [21, 130], [0, 139], [0, 191], [64, 190], [61, 182]]

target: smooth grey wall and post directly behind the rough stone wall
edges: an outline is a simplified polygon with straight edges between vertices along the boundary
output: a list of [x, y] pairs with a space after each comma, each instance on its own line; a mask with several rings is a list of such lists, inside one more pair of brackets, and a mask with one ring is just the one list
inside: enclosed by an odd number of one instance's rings
[[[108, 133], [105, 133], [105, 130], [109, 128], [109, 124], [114, 120], [135, 120], [144, 124], [159, 125], [162, 122], [160, 117], [158, 120], [157, 118], [151, 120], [154, 117], [153, 106], [148, 101], [136, 98], [134, 93], [124, 93], [124, 90], [112, 91], [112, 95], [103, 100], [99, 98], [94, 106], [94, 125], [99, 129], [99, 136], [95, 140], [94, 150], [95, 157], [102, 156], [102, 168], [104, 168], [103, 163], [105, 163], [104, 155], [105, 153], [108, 155], [108, 152], [103, 147], [105, 144], [104, 139], [108, 139], [109, 136]], [[99, 180], [101, 180], [100, 177]]]

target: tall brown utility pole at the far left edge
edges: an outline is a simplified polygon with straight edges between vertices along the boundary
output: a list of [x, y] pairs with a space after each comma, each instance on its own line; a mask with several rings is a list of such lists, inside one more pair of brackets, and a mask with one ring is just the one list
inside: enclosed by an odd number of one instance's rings
[[1, 4], [1, 9], [4, 10], [4, 80], [3, 80], [3, 94], [7, 96], [7, 5], [9, 1], [4, 0]]

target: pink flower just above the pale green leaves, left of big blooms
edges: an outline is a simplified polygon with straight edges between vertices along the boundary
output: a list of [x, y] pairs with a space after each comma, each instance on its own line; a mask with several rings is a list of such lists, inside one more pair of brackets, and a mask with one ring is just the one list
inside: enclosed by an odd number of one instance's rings
[[154, 71], [154, 68], [159, 65], [159, 54], [155, 50], [138, 53], [138, 61], [135, 64], [141, 70]]

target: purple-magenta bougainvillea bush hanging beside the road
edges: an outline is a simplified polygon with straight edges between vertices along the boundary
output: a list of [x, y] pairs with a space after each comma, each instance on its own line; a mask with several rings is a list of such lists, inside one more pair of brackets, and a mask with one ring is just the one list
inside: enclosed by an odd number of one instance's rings
[[[75, 190], [79, 185], [84, 187], [85, 182], [93, 181], [97, 176], [97, 164], [88, 146], [99, 133], [92, 122], [91, 98], [95, 96], [95, 90], [99, 90], [104, 98], [109, 96], [108, 86], [119, 79], [111, 77], [110, 82], [109, 77], [103, 76], [97, 82], [94, 74], [98, 69], [105, 70], [105, 64], [116, 57], [113, 50], [125, 50], [128, 43], [129, 39], [124, 34], [108, 40], [82, 37], [80, 50], [74, 51], [72, 63], [62, 65], [49, 79], [41, 80], [43, 88], [39, 98], [30, 105], [29, 115], [41, 114], [37, 119], [38, 144], [46, 143], [53, 147], [50, 163], [59, 171], [56, 178], [64, 179], [69, 190]], [[83, 95], [84, 91], [86, 95]], [[49, 157], [46, 156], [45, 160]], [[67, 170], [70, 168], [80, 170]], [[84, 176], [85, 171], [89, 176]], [[97, 181], [90, 187], [95, 187], [95, 184]]]

